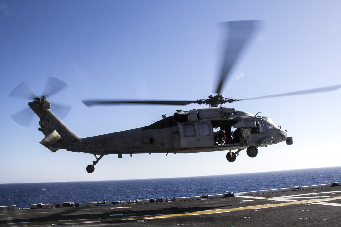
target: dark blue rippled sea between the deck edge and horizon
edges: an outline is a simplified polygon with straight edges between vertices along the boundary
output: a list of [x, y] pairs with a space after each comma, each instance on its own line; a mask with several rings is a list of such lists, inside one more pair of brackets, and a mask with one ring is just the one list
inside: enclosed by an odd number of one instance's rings
[[341, 166], [145, 180], [0, 184], [0, 206], [127, 201], [247, 192], [341, 182]]

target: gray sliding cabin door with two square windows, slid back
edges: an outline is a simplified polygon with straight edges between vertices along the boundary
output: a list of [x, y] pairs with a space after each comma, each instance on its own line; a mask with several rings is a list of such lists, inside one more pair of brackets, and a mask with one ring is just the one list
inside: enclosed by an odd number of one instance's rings
[[210, 121], [180, 123], [180, 148], [213, 147], [213, 127]]

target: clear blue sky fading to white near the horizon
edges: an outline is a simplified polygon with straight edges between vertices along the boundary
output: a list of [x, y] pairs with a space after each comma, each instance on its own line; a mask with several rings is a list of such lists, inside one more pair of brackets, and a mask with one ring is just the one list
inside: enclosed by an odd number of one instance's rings
[[[94, 181], [221, 175], [338, 166], [341, 91], [231, 104], [262, 112], [294, 144], [242, 152], [93, 155], [39, 146], [44, 138], [10, 115], [27, 107], [9, 98], [27, 80], [41, 93], [47, 76], [69, 85], [49, 101], [72, 104], [64, 118], [79, 137], [149, 125], [176, 109], [205, 106], [88, 108], [81, 99], [204, 99], [219, 72], [218, 22], [264, 20], [234, 68], [225, 97], [242, 99], [341, 84], [340, 1], [9, 1], [0, 0], [0, 183]], [[238, 77], [243, 73], [243, 77]]]

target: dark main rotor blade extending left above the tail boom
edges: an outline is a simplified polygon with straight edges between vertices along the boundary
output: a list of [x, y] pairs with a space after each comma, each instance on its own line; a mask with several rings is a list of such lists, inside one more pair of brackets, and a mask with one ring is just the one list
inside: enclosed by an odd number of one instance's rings
[[156, 104], [156, 105], [187, 105], [196, 101], [176, 100], [82, 100], [86, 106], [110, 104]]

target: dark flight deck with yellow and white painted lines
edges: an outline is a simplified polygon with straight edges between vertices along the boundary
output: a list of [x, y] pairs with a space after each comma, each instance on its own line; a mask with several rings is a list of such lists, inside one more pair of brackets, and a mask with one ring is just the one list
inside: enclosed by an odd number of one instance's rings
[[[332, 186], [337, 185], [337, 186]], [[92, 207], [0, 211], [3, 226], [336, 226], [339, 183], [234, 197]], [[297, 187], [298, 188], [298, 187]], [[304, 188], [308, 188], [302, 190]], [[266, 191], [270, 192], [270, 191]]]

